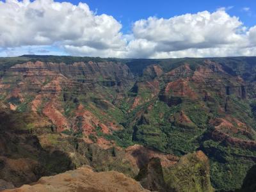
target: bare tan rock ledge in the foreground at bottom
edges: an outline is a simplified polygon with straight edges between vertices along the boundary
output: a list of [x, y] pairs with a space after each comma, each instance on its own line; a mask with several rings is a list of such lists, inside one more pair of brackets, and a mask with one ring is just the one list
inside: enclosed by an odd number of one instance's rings
[[68, 171], [51, 177], [42, 177], [33, 185], [4, 191], [148, 191], [136, 180], [118, 172], [93, 172], [89, 166]]

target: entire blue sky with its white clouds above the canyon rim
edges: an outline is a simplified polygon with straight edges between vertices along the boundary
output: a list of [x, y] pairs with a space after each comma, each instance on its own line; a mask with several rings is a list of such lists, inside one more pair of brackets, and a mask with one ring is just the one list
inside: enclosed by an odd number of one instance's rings
[[256, 56], [255, 0], [0, 0], [0, 26], [0, 56]]

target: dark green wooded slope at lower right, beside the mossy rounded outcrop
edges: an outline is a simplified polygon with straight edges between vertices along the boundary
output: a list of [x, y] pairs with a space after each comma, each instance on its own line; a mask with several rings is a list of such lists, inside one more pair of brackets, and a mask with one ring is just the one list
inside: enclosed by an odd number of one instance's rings
[[212, 186], [227, 191], [241, 188], [246, 173], [255, 164], [250, 157], [255, 157], [256, 152], [212, 140], [205, 141], [202, 147], [210, 159]]

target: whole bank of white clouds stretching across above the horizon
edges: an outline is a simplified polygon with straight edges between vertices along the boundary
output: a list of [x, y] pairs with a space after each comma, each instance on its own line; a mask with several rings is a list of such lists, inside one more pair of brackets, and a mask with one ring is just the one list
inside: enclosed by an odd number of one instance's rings
[[[148, 17], [134, 22], [131, 34], [122, 34], [120, 22], [111, 15], [97, 15], [85, 3], [0, 1], [0, 55], [6, 50], [17, 54], [29, 46], [58, 47], [61, 53], [76, 56], [120, 58], [255, 55], [256, 26], [246, 28], [226, 11]], [[47, 49], [36, 50], [48, 54]]]

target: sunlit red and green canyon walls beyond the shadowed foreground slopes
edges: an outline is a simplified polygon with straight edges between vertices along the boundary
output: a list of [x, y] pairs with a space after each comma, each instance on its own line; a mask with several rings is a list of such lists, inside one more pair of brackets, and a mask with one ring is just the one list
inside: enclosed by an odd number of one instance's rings
[[234, 190], [255, 164], [254, 57], [0, 63], [1, 102], [33, 116], [25, 129], [43, 148], [67, 152], [76, 167], [135, 177], [152, 157], [168, 167], [202, 150], [214, 188]]

